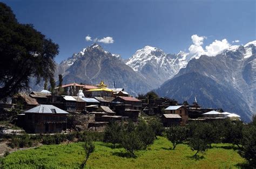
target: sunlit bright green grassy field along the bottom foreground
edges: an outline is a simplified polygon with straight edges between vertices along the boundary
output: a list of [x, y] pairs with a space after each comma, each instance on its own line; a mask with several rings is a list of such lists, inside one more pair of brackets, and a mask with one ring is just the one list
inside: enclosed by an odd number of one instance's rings
[[[128, 158], [124, 148], [96, 142], [95, 152], [86, 168], [239, 168], [245, 160], [230, 144], [213, 144], [202, 159], [192, 158], [195, 152], [181, 144], [176, 150], [164, 137], [154, 141], [145, 151], [136, 152], [137, 158]], [[4, 159], [4, 168], [79, 168], [83, 160], [81, 143], [49, 145], [17, 151]]]

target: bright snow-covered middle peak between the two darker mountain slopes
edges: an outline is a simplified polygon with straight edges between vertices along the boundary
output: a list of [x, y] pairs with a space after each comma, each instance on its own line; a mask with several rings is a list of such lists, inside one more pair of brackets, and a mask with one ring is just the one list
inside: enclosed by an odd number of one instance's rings
[[126, 64], [149, 79], [150, 85], [154, 87], [171, 79], [181, 68], [185, 67], [188, 62], [186, 56], [185, 52], [179, 52], [177, 55], [166, 54], [161, 49], [145, 46], [127, 59]]

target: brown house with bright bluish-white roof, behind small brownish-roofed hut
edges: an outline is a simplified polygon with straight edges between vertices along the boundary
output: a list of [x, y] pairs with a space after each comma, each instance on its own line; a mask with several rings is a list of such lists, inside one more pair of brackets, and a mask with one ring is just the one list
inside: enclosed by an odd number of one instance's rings
[[188, 113], [184, 105], [169, 106], [165, 109], [165, 114], [179, 114], [181, 117], [181, 125], [185, 125], [187, 123]]

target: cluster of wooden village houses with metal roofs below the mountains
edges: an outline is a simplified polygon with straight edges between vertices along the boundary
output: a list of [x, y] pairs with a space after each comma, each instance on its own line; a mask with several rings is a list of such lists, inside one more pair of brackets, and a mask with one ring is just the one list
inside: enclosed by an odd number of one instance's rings
[[109, 89], [78, 83], [48, 90], [19, 93], [5, 99], [1, 107], [19, 109], [16, 124], [28, 133], [62, 131], [103, 131], [110, 121], [138, 121], [139, 116], [158, 116], [164, 127], [186, 125], [190, 121], [240, 120], [240, 116], [222, 109], [203, 108], [197, 102], [178, 103], [167, 97], [131, 97], [123, 88]]

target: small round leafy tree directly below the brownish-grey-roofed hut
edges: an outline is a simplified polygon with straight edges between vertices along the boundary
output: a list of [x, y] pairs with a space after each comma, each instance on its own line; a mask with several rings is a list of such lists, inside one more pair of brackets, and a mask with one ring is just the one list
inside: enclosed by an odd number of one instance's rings
[[171, 126], [166, 133], [167, 139], [173, 144], [173, 150], [186, 139], [186, 128], [183, 126]]

